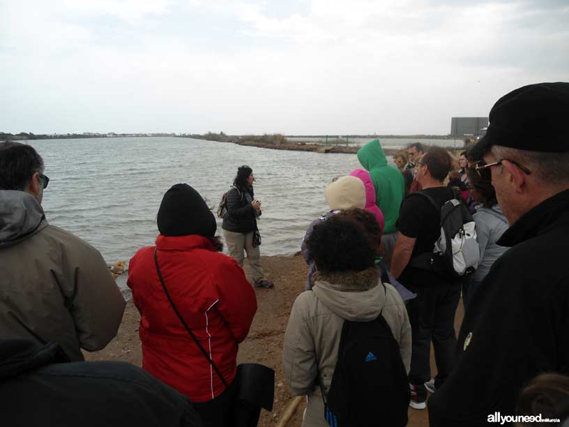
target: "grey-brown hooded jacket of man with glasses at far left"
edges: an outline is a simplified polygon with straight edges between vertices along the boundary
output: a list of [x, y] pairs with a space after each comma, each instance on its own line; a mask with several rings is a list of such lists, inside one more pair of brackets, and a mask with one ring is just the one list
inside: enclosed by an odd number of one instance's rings
[[48, 225], [36, 199], [0, 190], [0, 336], [56, 341], [71, 360], [100, 350], [126, 302], [98, 250]]

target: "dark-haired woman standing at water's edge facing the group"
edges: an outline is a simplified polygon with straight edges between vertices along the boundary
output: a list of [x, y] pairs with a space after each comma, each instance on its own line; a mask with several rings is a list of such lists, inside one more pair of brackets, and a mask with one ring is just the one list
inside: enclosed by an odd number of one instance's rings
[[273, 287], [273, 283], [266, 280], [261, 266], [261, 250], [255, 244], [254, 237], [257, 232], [257, 218], [261, 216], [261, 202], [253, 197], [253, 170], [248, 166], [241, 166], [233, 186], [227, 193], [227, 213], [221, 225], [229, 256], [234, 257], [243, 267], [243, 249], [253, 274], [253, 283], [256, 287]]

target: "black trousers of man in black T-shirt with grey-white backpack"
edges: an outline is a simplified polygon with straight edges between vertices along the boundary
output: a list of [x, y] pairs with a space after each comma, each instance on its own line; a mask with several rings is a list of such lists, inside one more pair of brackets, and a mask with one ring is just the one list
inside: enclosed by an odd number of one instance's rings
[[434, 383], [438, 388], [455, 366], [455, 314], [460, 301], [461, 283], [420, 271], [409, 276], [412, 276], [412, 284], [409, 280], [404, 284], [417, 294], [407, 304], [413, 340], [409, 381], [423, 387], [431, 379], [432, 340], [438, 370]]

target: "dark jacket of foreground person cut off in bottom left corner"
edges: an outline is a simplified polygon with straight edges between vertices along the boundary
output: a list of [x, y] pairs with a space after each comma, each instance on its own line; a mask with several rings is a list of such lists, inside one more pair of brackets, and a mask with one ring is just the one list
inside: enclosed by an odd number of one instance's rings
[[185, 396], [137, 366], [68, 360], [56, 343], [0, 340], [2, 425], [203, 426]]

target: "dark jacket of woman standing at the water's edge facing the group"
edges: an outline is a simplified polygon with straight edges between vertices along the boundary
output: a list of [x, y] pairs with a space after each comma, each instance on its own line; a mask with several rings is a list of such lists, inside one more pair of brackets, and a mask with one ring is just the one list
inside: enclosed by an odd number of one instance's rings
[[227, 193], [227, 213], [221, 225], [223, 230], [235, 233], [249, 233], [257, 230], [255, 209], [251, 206], [254, 199], [253, 188], [248, 190], [232, 187]]

